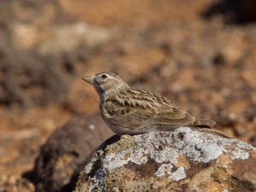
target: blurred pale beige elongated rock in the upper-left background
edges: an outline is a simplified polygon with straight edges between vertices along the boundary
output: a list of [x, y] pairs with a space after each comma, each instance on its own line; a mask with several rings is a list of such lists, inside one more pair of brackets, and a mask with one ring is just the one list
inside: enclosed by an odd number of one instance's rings
[[110, 38], [110, 32], [104, 27], [90, 26], [85, 22], [65, 23], [52, 26], [49, 39], [39, 51], [43, 55], [70, 52], [79, 45], [96, 46], [108, 42]]

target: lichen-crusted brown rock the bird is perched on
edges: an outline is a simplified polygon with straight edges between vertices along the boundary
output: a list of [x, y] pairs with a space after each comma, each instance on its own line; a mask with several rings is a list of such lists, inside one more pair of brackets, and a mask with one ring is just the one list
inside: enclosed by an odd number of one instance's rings
[[123, 136], [101, 148], [82, 172], [82, 191], [255, 191], [256, 148], [180, 127]]

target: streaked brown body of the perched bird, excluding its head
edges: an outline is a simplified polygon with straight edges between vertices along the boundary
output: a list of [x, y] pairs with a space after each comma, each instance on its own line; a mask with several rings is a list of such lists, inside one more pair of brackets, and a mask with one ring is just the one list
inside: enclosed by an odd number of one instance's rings
[[211, 127], [212, 120], [197, 120], [165, 97], [147, 90], [120, 90], [104, 96], [102, 117], [117, 134], [171, 131], [186, 125]]

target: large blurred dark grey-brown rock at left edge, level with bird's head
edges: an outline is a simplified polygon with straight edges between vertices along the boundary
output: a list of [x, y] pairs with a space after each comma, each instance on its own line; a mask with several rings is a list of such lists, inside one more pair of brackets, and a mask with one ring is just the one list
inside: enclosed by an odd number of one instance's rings
[[0, 58], [0, 73], [0, 104], [26, 108], [61, 102], [73, 77], [65, 62], [58, 58], [11, 49]]

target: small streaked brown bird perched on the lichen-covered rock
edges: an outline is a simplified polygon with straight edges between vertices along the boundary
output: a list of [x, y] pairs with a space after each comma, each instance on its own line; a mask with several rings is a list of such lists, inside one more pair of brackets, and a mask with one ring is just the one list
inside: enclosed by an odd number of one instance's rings
[[212, 130], [215, 121], [196, 119], [164, 96], [132, 88], [115, 73], [97, 73], [82, 79], [96, 89], [102, 119], [119, 136], [173, 131], [182, 126], [224, 136], [219, 131]]

